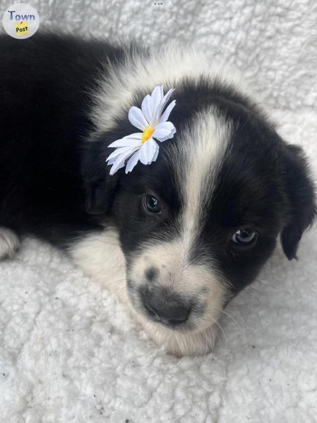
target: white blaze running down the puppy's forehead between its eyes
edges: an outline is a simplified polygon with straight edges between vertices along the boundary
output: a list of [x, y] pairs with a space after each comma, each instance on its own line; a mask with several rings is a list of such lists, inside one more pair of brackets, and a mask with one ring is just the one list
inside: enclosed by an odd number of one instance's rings
[[188, 249], [199, 235], [201, 222], [208, 211], [231, 133], [231, 121], [215, 107], [209, 107], [197, 113], [178, 135], [174, 157], [184, 204], [180, 230]]

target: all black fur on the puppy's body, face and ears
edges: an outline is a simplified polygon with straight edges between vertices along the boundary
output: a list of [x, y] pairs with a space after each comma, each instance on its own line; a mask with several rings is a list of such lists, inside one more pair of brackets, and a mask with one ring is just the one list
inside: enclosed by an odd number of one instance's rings
[[[170, 228], [183, 199], [168, 142], [151, 166], [139, 163], [132, 174], [121, 169], [110, 177], [107, 145], [135, 132], [128, 110], [110, 132], [91, 136], [96, 130], [89, 118], [91, 93], [107, 74], [105, 59], [119, 66], [129, 51], [104, 41], [36, 34], [22, 42], [1, 36], [0, 52], [0, 226], [65, 245], [110, 222], [119, 230], [128, 264], [142, 243], [174, 236]], [[146, 94], [136, 92], [133, 104], [140, 107]], [[287, 145], [264, 113], [230, 85], [184, 78], [174, 98], [170, 120], [177, 133], [171, 143], [181, 143], [184, 125], [210, 105], [237, 123], [191, 257], [208, 260], [210, 253], [235, 294], [255, 278], [279, 234], [287, 257], [296, 256], [316, 215], [307, 162], [302, 150]], [[144, 210], [148, 192], [159, 196], [160, 215]], [[258, 233], [254, 246], [230, 241], [243, 227]], [[153, 278], [150, 272], [148, 279]]]

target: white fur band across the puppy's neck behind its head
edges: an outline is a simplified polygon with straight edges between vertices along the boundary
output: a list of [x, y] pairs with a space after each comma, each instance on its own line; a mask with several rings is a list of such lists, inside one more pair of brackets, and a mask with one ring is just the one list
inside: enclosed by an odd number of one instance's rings
[[172, 88], [186, 76], [192, 81], [201, 75], [211, 80], [218, 77], [245, 93], [250, 92], [237, 69], [224, 61], [211, 63], [203, 51], [185, 43], [169, 42], [161, 48], [153, 48], [147, 57], [133, 52], [119, 66], [106, 62], [105, 68], [107, 73], [100, 81], [100, 88], [92, 92], [95, 106], [91, 118], [97, 132], [108, 131], [118, 117], [128, 116], [136, 91], [144, 89], [150, 94], [160, 84], [164, 84], [165, 89]]

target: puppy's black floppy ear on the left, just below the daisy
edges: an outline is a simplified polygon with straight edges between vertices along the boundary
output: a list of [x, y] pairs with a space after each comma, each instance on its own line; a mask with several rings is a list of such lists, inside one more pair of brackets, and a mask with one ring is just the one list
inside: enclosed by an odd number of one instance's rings
[[82, 162], [82, 176], [86, 191], [86, 211], [92, 216], [106, 214], [119, 185], [118, 173], [110, 175], [106, 164], [107, 143], [102, 137], [87, 144]]

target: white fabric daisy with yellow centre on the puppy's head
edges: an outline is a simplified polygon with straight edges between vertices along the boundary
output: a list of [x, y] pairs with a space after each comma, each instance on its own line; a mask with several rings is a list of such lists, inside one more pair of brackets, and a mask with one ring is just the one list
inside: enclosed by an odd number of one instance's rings
[[[155, 162], [159, 154], [159, 145], [155, 141], [163, 142], [173, 138], [176, 132], [172, 122], [167, 122], [170, 112], [175, 106], [173, 100], [163, 112], [172, 92], [171, 88], [164, 95], [163, 85], [157, 86], [142, 101], [141, 109], [132, 106], [129, 110], [128, 118], [133, 126], [143, 132], [136, 132], [118, 139], [108, 147], [116, 147], [106, 159], [108, 165], [112, 165], [110, 175], [118, 169], [125, 167], [125, 173], [132, 171], [140, 160], [144, 165]], [[155, 138], [155, 139], [154, 139]]]

